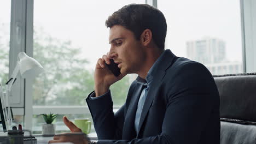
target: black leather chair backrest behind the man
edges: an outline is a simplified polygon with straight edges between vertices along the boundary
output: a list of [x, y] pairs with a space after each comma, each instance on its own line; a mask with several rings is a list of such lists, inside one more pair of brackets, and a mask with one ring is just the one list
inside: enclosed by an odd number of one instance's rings
[[256, 143], [256, 73], [213, 76], [220, 95], [220, 143]]

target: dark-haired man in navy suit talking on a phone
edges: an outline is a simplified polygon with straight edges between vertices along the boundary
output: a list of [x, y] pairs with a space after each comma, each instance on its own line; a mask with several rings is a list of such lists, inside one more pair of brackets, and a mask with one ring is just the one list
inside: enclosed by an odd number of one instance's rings
[[[108, 17], [106, 26], [110, 50], [98, 59], [95, 91], [86, 98], [97, 143], [219, 143], [219, 94], [213, 77], [202, 64], [164, 50], [167, 26], [161, 11], [126, 5]], [[109, 59], [118, 64], [118, 77], [106, 67]], [[109, 87], [131, 73], [138, 77], [114, 113]]]

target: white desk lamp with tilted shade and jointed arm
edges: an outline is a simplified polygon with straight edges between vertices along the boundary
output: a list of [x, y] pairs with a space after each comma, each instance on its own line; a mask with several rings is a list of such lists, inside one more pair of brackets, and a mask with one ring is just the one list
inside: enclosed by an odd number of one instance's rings
[[9, 81], [6, 83], [6, 88], [5, 88], [5, 98], [3, 99], [3, 102], [7, 109], [7, 121], [9, 124], [11, 124], [11, 111], [9, 107], [9, 94], [11, 92], [11, 87], [13, 86], [14, 82], [16, 81], [16, 76], [18, 75], [20, 71], [21, 77], [24, 79], [33, 79], [40, 73], [44, 71], [42, 65], [36, 61], [36, 59], [29, 57], [26, 55], [25, 52], [20, 52], [18, 54], [18, 61], [17, 64], [14, 68], [13, 74], [11, 74], [11, 77]]

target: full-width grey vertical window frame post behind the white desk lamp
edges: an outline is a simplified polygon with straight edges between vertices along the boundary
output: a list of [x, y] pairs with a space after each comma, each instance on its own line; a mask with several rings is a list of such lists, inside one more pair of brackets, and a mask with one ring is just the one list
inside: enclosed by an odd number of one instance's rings
[[[11, 0], [9, 78], [18, 60], [18, 53], [33, 57], [33, 0]], [[26, 129], [32, 128], [32, 81], [20, 74], [11, 89], [10, 106], [14, 115], [24, 115]], [[26, 95], [26, 97], [25, 97]], [[19, 99], [18, 103], [11, 103]]]

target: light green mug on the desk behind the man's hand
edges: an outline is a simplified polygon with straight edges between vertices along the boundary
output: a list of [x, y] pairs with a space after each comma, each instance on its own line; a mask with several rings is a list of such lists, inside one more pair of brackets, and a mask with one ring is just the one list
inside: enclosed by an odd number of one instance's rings
[[85, 134], [89, 134], [91, 131], [91, 121], [89, 121], [89, 118], [75, 118], [74, 124]]

